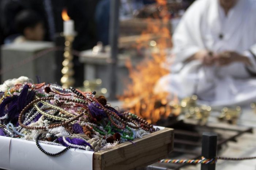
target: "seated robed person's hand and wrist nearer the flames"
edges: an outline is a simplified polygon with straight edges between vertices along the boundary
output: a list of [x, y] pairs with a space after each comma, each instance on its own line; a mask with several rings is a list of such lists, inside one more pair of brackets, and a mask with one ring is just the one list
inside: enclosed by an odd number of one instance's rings
[[203, 65], [211, 66], [214, 64], [214, 53], [208, 50], [200, 50], [195, 53], [190, 60], [200, 60]]

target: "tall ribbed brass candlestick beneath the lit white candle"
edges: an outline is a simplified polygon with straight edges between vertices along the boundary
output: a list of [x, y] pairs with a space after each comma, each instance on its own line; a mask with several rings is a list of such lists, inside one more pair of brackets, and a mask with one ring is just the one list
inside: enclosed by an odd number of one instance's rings
[[72, 54], [72, 42], [75, 38], [74, 35], [64, 35], [65, 36], [65, 48], [64, 48], [64, 61], [62, 62], [63, 69], [61, 70], [62, 77], [60, 82], [63, 88], [69, 88], [75, 83], [74, 78], [74, 64], [73, 64], [73, 54]]

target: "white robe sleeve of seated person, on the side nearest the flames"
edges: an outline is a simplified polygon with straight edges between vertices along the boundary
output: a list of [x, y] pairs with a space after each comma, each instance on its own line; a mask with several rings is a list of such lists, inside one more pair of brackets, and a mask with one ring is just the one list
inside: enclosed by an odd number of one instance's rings
[[195, 1], [185, 12], [178, 27], [173, 34], [173, 52], [176, 56], [175, 63], [183, 62], [197, 51], [204, 49], [200, 32], [202, 9], [206, 8], [205, 1]]

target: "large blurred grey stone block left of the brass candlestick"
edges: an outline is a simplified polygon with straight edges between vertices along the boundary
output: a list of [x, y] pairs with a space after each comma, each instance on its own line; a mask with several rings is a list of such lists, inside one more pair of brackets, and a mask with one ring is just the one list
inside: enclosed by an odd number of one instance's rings
[[[53, 43], [24, 42], [1, 46], [1, 81], [26, 76], [36, 81], [56, 82]], [[61, 64], [61, 63], [59, 63]]]

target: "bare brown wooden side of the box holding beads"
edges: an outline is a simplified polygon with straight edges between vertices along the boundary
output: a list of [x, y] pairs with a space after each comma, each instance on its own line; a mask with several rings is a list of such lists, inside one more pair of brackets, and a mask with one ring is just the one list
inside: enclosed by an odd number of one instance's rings
[[93, 170], [129, 170], [144, 167], [166, 158], [173, 150], [173, 129], [125, 142], [112, 149], [93, 154]]

